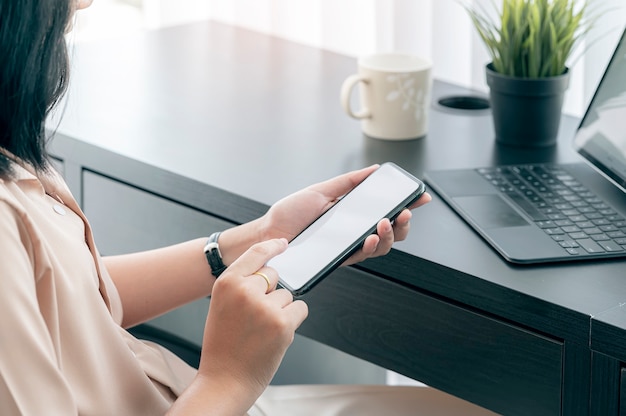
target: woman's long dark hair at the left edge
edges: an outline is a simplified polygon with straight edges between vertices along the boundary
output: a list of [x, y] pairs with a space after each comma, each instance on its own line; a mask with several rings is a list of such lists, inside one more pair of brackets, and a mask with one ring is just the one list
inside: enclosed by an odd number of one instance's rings
[[[71, 0], [0, 1], [0, 147], [46, 170], [45, 121], [67, 89]], [[11, 160], [0, 153], [0, 176]]]

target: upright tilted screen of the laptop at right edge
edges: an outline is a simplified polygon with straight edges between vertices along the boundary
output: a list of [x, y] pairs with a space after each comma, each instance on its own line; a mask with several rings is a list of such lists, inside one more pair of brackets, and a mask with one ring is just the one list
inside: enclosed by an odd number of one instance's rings
[[574, 148], [626, 192], [626, 31], [580, 123]]

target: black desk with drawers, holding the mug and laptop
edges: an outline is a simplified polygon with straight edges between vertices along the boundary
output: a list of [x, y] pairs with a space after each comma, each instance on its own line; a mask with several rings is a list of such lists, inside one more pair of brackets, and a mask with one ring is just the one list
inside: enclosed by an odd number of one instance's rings
[[[303, 186], [385, 160], [417, 176], [578, 160], [573, 118], [564, 117], [554, 149], [500, 148], [488, 110], [437, 104], [471, 93], [440, 81], [426, 138], [368, 139], [339, 105], [355, 59], [217, 23], [80, 45], [73, 55], [53, 154], [105, 254], [133, 247], [118, 223], [155, 245], [206, 235], [209, 224], [248, 221]], [[391, 254], [311, 292], [300, 333], [498, 412], [617, 414], [626, 262], [507, 264], [434, 197]], [[129, 208], [110, 209], [113, 198]], [[157, 205], [167, 221], [151, 220]]]

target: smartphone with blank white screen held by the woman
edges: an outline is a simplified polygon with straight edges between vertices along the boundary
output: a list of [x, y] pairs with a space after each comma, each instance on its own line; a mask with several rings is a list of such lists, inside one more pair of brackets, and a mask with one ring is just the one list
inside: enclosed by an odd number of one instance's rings
[[394, 163], [382, 164], [289, 242], [267, 265], [294, 296], [309, 291], [358, 250], [383, 218], [394, 220], [425, 191]]

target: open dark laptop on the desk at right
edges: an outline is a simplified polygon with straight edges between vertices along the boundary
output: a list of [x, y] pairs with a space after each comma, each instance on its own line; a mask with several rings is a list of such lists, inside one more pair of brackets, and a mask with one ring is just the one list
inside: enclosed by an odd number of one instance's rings
[[583, 161], [426, 172], [516, 264], [626, 258], [626, 30], [573, 137]]

